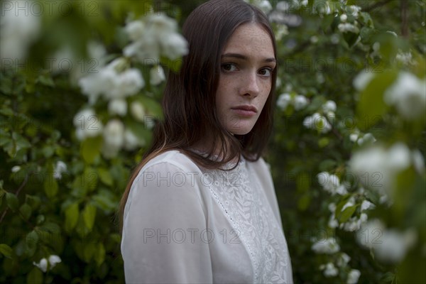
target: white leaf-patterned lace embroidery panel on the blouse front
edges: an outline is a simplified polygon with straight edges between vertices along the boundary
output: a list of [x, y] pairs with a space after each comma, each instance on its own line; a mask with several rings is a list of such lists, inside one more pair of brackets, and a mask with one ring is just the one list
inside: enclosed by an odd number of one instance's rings
[[209, 189], [249, 251], [254, 283], [288, 283], [288, 250], [283, 232], [246, 160], [231, 171], [213, 170]]

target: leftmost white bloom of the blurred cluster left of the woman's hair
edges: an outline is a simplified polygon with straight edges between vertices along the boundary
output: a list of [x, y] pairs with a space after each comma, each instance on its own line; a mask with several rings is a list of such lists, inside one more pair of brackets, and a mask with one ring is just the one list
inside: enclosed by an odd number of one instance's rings
[[74, 116], [77, 138], [82, 141], [86, 137], [95, 137], [102, 133], [102, 122], [93, 109], [83, 109]]

